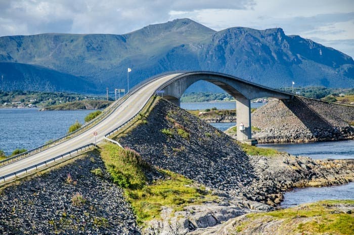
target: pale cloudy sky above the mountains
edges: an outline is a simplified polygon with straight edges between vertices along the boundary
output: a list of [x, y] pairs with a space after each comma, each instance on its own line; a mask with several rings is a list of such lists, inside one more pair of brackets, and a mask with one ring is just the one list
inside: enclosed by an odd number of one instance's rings
[[281, 27], [354, 57], [354, 0], [0, 0], [0, 36], [123, 34], [177, 18], [214, 30]]

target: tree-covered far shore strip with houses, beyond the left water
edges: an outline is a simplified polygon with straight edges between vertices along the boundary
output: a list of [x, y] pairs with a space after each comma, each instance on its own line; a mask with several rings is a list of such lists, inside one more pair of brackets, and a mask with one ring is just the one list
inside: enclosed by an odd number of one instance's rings
[[27, 107], [28, 105], [46, 107], [73, 101], [89, 102], [104, 99], [104, 96], [86, 96], [68, 92], [0, 91], [0, 106], [3, 107]]

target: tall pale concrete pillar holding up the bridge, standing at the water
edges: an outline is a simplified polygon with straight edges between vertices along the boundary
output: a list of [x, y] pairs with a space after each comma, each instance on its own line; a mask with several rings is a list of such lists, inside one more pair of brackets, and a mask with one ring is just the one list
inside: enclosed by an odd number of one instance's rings
[[[236, 98], [236, 114], [237, 114], [237, 140], [249, 145], [257, 144], [256, 140], [252, 140], [251, 132], [251, 100], [247, 98]], [[240, 130], [241, 123], [245, 130]]]

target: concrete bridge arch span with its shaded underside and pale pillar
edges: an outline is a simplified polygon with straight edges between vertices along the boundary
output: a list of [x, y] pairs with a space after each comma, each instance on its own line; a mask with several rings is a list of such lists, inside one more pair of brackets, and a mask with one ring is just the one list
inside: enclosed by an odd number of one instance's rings
[[251, 100], [261, 97], [291, 99], [293, 96], [292, 94], [254, 84], [232, 75], [209, 71], [176, 74], [162, 84], [158, 90], [164, 91], [163, 97], [165, 99], [180, 106], [180, 98], [187, 88], [201, 80], [222, 88], [236, 99], [237, 123], [238, 126], [242, 123], [245, 127], [245, 130], [237, 128], [237, 139], [249, 144], [255, 144], [255, 141], [251, 138]]

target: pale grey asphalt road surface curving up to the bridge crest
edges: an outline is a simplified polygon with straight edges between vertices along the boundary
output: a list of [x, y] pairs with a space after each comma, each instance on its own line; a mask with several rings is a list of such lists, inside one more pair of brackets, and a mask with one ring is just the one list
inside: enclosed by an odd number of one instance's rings
[[143, 86], [134, 94], [130, 95], [123, 103], [121, 103], [118, 108], [109, 116], [107, 116], [104, 121], [90, 129], [87, 129], [81, 134], [69, 139], [68, 141], [62, 142], [49, 149], [43, 150], [28, 156], [27, 158], [1, 167], [0, 177], [22, 170], [26, 167], [39, 164], [46, 160], [50, 160], [55, 156], [59, 156], [83, 145], [95, 143], [95, 137], [93, 135], [95, 131], [98, 133], [97, 142], [102, 141], [105, 134], [111, 132], [115, 128], [118, 128], [123, 123], [128, 121], [132, 116], [134, 116], [137, 112], [139, 112], [143, 108], [145, 102], [154, 94], [155, 90], [162, 83], [168, 81], [176, 75], [178, 74], [161, 76], [157, 80], [154, 80], [153, 82]]

